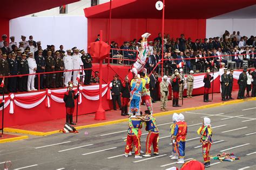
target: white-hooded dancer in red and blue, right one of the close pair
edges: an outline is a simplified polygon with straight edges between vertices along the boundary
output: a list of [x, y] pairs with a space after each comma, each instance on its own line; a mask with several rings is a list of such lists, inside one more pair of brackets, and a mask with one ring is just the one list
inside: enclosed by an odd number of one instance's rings
[[187, 124], [184, 121], [184, 115], [179, 114], [179, 118], [173, 134], [173, 138], [176, 139], [176, 147], [177, 147], [177, 152], [179, 154], [179, 159], [176, 162], [176, 164], [184, 164], [186, 135], [187, 135]]

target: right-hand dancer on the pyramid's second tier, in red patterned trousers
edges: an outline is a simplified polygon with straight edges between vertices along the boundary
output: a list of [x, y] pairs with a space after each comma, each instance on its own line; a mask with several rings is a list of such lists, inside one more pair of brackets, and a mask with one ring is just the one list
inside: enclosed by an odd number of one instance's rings
[[140, 78], [145, 80], [145, 86], [142, 88], [142, 104], [145, 102], [147, 110], [153, 114], [152, 100], [150, 96], [150, 78], [145, 73], [140, 73]]

